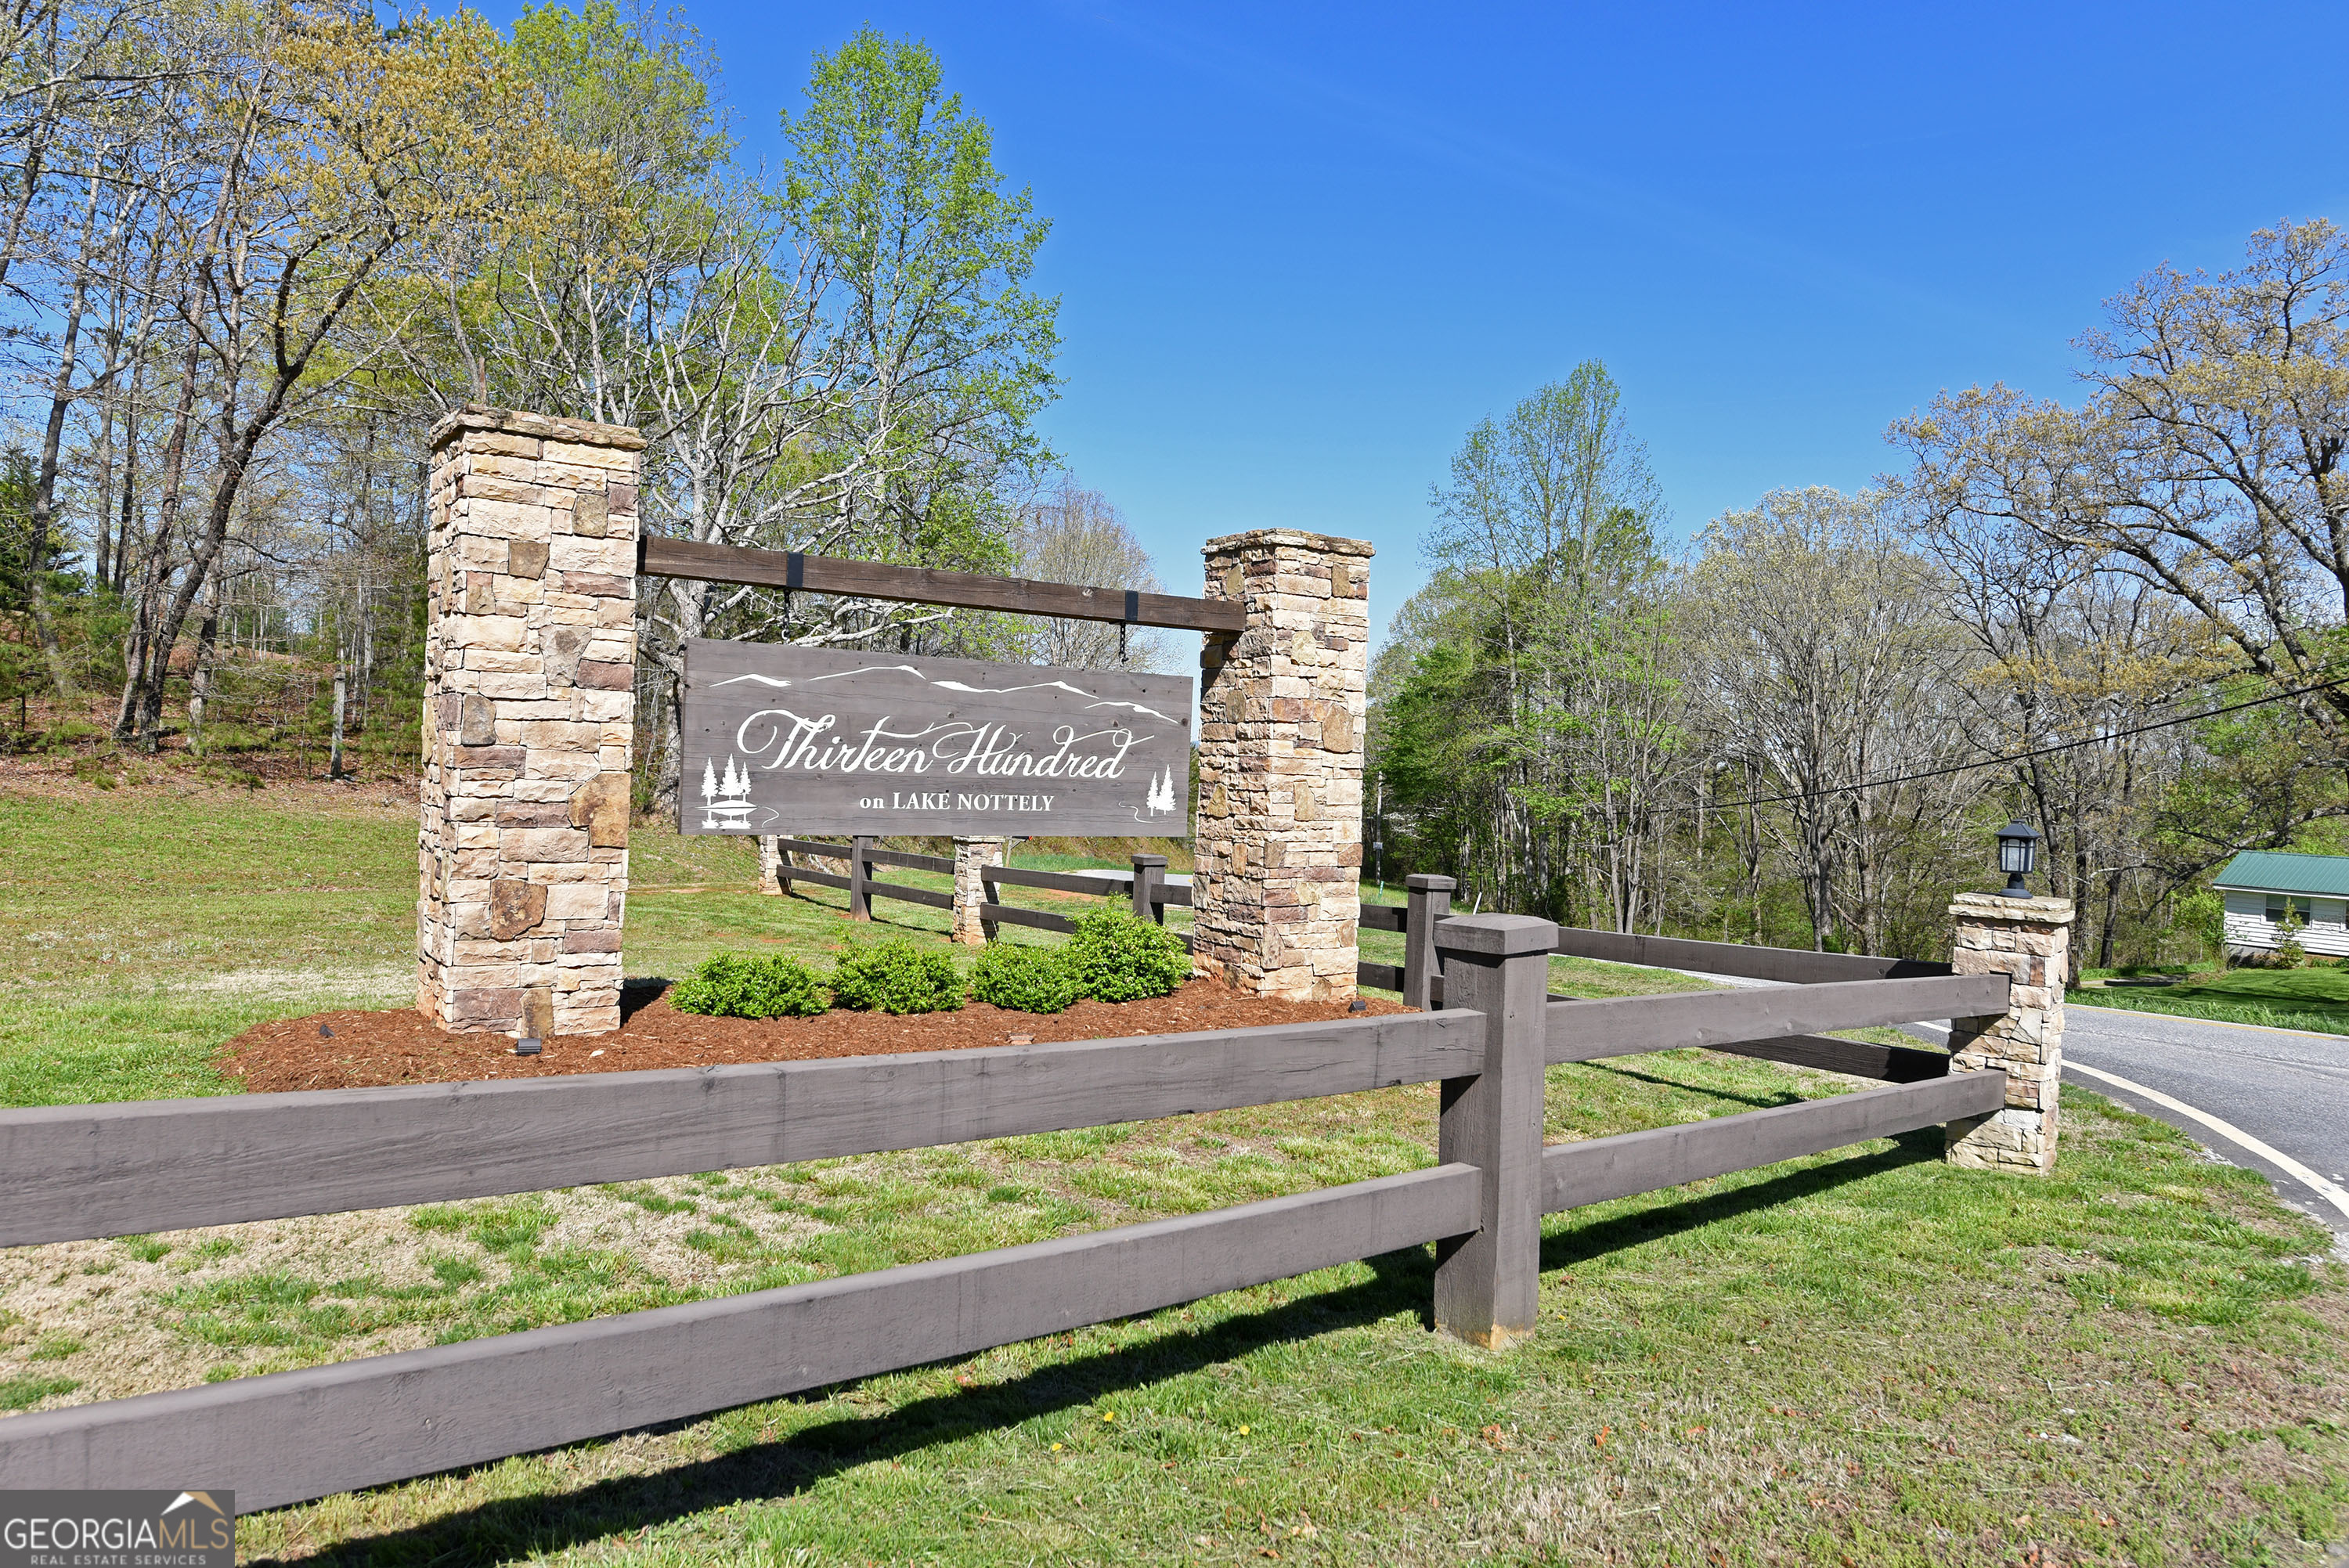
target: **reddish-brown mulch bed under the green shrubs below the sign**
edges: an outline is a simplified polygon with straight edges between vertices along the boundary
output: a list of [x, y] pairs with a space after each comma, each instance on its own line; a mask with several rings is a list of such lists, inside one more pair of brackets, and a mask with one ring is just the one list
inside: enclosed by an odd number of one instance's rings
[[319, 1012], [244, 1030], [221, 1047], [221, 1068], [242, 1077], [254, 1094], [364, 1089], [482, 1077], [705, 1068], [738, 1061], [963, 1052], [982, 1045], [1012, 1045], [1012, 1035], [1029, 1035], [1038, 1042], [1172, 1035], [1200, 1028], [1377, 1016], [1407, 1012], [1407, 1007], [1372, 1000], [1367, 1014], [1351, 1014], [1346, 1002], [1280, 1002], [1238, 995], [1219, 981], [1196, 979], [1174, 995], [1149, 1002], [1078, 1002], [1069, 1012], [1050, 1016], [968, 1002], [961, 1012], [907, 1019], [839, 1007], [817, 1019], [705, 1019], [677, 1012], [665, 995], [653, 998], [651, 988], [630, 988], [625, 1012], [627, 1021], [615, 1033], [557, 1035], [538, 1056], [514, 1056], [514, 1042], [505, 1035], [451, 1035], [425, 1023], [423, 1014], [409, 1007], [397, 1012]]

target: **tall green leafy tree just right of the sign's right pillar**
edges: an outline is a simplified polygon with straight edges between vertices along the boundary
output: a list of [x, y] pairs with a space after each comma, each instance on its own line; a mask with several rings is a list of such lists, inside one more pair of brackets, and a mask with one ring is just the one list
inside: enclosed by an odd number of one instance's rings
[[1663, 500], [1621, 387], [1574, 366], [1475, 425], [1431, 500], [1435, 577], [1381, 662], [1374, 793], [1494, 904], [1633, 930], [1684, 690]]

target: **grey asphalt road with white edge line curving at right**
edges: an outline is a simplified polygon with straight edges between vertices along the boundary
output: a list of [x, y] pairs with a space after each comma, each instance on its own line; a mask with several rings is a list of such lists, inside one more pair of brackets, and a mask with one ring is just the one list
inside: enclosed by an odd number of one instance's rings
[[[1694, 969], [1691, 969], [1694, 974]], [[1708, 974], [1727, 986], [1769, 986], [1773, 981]], [[2349, 1249], [2349, 1035], [2314, 1035], [2293, 1028], [2253, 1028], [2248, 1023], [2210, 1023], [2173, 1019], [2152, 1012], [2112, 1007], [2065, 1007], [2062, 1054], [2067, 1066], [2093, 1068], [2126, 1077], [2163, 1094], [2201, 1117], [2163, 1106], [2135, 1089], [2077, 1073], [2072, 1082], [2112, 1096], [2149, 1117], [2182, 1129], [2203, 1148], [2234, 1164], [2250, 1167], [2276, 1185], [2276, 1195], [2295, 1209], [2333, 1228]], [[1947, 1028], [1910, 1026], [1921, 1040], [1945, 1045]], [[2236, 1136], [2210, 1127], [2206, 1117], [2227, 1122], [2236, 1134], [2307, 1167], [2333, 1192], [2311, 1188], [2290, 1169]]]

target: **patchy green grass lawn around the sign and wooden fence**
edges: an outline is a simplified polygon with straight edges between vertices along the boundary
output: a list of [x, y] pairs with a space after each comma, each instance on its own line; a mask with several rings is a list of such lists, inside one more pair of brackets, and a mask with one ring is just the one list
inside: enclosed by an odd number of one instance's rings
[[[392, 789], [0, 782], [0, 1099], [226, 1094], [209, 1059], [247, 1023], [406, 1002], [413, 833]], [[836, 894], [749, 892], [738, 843], [639, 829], [632, 873], [634, 974], [855, 939]], [[1849, 1087], [1705, 1052], [1583, 1063], [1550, 1073], [1548, 1136]], [[1541, 1333], [1506, 1354], [1426, 1331], [1414, 1249], [240, 1535], [249, 1561], [331, 1563], [2321, 1561], [2349, 1533], [2349, 1282], [2326, 1232], [2159, 1122], [2065, 1103], [2053, 1181], [1952, 1171], [1926, 1131], [1555, 1216]], [[1433, 1162], [1433, 1124], [1412, 1087], [19, 1249], [0, 1408], [1381, 1176]]]

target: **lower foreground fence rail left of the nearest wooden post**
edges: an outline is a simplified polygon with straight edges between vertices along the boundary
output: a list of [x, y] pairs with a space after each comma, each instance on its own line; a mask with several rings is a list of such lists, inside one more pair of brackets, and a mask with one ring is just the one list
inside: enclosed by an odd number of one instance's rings
[[1276, 1197], [817, 1284], [0, 1420], [0, 1486], [202, 1467], [237, 1509], [479, 1465], [1153, 1312], [1478, 1225], [1478, 1174]]

